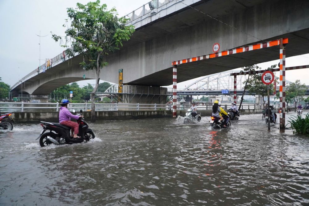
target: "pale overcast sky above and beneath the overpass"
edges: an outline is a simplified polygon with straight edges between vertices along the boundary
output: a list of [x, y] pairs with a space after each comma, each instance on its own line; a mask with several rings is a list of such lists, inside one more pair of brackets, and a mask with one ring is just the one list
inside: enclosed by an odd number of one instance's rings
[[[107, 0], [108, 8], [116, 7], [120, 16], [146, 4], [150, 0]], [[86, 4], [89, 0], [0, 0], [0, 62], [2, 81], [13, 86], [19, 79], [26, 76], [39, 66], [44, 59], [51, 59], [63, 51], [59, 43], [52, 38], [50, 31], [64, 36], [65, 28], [62, 25], [67, 19], [66, 8], [76, 6], [80, 2]], [[39, 37], [41, 37], [41, 53]], [[287, 51], [288, 53], [288, 51]], [[278, 51], [279, 56], [279, 51]], [[259, 64], [263, 69], [279, 60]], [[309, 54], [286, 59], [286, 66], [309, 64]], [[279, 72], [276, 72], [277, 75]], [[286, 72], [289, 81], [301, 80], [309, 85], [309, 69], [300, 69]], [[193, 81], [193, 80], [192, 80]], [[87, 82], [94, 84], [94, 80], [78, 82], [85, 85]], [[188, 81], [179, 83], [178, 88], [188, 85]]]

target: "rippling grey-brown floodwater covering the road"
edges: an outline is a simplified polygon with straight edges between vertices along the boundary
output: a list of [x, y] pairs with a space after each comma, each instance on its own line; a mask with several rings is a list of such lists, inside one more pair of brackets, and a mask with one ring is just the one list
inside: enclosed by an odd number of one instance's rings
[[261, 116], [97, 121], [90, 142], [43, 148], [39, 124], [16, 125], [0, 132], [0, 205], [309, 205], [309, 138]]

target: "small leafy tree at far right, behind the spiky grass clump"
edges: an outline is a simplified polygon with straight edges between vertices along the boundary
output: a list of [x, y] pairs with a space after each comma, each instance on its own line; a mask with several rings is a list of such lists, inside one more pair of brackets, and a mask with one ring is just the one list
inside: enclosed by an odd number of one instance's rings
[[289, 93], [295, 103], [295, 112], [296, 104], [303, 99], [303, 96], [305, 96], [306, 93], [306, 89], [306, 84], [301, 84], [300, 80], [296, 80], [286, 87], [286, 93]]

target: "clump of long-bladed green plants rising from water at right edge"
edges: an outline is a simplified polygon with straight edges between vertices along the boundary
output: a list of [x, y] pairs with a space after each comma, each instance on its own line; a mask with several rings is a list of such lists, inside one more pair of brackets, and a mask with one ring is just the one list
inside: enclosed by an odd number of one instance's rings
[[305, 118], [301, 116], [290, 117], [288, 122], [291, 124], [294, 134], [304, 134], [309, 137], [309, 113], [307, 113]]

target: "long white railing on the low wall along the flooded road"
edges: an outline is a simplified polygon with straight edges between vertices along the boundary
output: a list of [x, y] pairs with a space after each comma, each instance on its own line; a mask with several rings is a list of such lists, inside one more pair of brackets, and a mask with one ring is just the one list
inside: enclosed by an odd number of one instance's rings
[[[16, 106], [15, 106], [16, 105]], [[279, 105], [274, 105], [275, 109], [279, 108]], [[292, 106], [292, 105], [291, 105]], [[17, 109], [20, 112], [24, 112], [28, 109], [53, 109], [54, 111], [59, 111], [61, 105], [59, 103], [32, 103], [32, 102], [0, 102], [1, 109]], [[177, 110], [189, 109], [191, 105], [177, 105]], [[224, 109], [229, 109], [230, 105], [222, 105]], [[199, 110], [211, 110], [212, 104], [197, 105]], [[91, 109], [91, 103], [70, 103], [68, 109], [83, 109], [87, 111]], [[169, 105], [166, 104], [127, 104], [127, 103], [95, 103], [96, 111], [118, 111], [119, 109], [128, 110], [168, 110]], [[263, 109], [263, 105], [254, 104], [243, 104], [241, 109]]]

